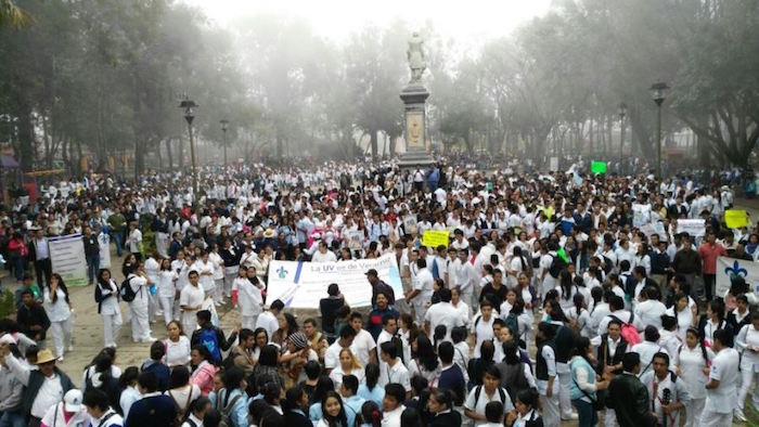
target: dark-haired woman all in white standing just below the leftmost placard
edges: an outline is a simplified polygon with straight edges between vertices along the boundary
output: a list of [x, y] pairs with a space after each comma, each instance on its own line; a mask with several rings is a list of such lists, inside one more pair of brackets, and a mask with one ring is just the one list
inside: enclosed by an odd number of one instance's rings
[[63, 361], [63, 352], [73, 351], [72, 306], [68, 289], [57, 273], [50, 277], [50, 288], [44, 289], [44, 308], [50, 319], [50, 331], [55, 345], [55, 358]]

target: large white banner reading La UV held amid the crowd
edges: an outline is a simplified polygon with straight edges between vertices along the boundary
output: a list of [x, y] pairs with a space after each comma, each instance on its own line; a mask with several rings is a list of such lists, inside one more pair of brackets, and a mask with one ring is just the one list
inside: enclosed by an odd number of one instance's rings
[[370, 269], [393, 287], [396, 300], [403, 298], [396, 257], [388, 254], [377, 259], [338, 262], [271, 261], [267, 302], [280, 299], [285, 307], [318, 309], [319, 300], [327, 296], [326, 287], [336, 283], [350, 307], [368, 307], [372, 287], [364, 273]]

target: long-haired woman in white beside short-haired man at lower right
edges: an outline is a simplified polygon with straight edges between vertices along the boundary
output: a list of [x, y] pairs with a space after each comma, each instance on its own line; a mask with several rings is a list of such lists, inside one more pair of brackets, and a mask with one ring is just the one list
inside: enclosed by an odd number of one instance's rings
[[[707, 375], [704, 374], [711, 365], [715, 352], [704, 346], [698, 329], [689, 328], [685, 342], [674, 353], [676, 372], [687, 386], [691, 401], [685, 404], [685, 427], [696, 427], [700, 423], [704, 404], [706, 403]], [[706, 371], [708, 372], [708, 371]]]

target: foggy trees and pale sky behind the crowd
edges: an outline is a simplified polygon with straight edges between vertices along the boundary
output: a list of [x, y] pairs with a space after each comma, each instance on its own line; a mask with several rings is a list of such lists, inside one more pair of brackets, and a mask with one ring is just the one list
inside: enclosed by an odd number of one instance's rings
[[201, 165], [221, 119], [230, 163], [393, 156], [420, 31], [438, 153], [655, 158], [664, 81], [669, 161], [756, 163], [759, 1], [363, 3], [0, 0], [0, 147], [24, 170], [183, 168], [186, 94]]

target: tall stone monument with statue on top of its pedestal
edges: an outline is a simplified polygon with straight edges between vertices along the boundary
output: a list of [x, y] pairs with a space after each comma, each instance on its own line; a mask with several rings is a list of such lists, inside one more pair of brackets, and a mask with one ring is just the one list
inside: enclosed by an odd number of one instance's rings
[[406, 153], [400, 156], [399, 166], [402, 169], [428, 168], [435, 160], [427, 147], [426, 101], [429, 91], [422, 83], [427, 63], [424, 56], [424, 40], [419, 33], [412, 34], [409, 39], [407, 60], [411, 79], [400, 92], [404, 111]]

